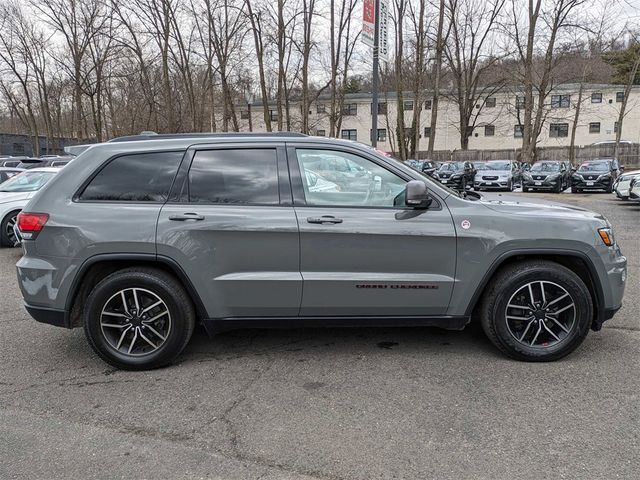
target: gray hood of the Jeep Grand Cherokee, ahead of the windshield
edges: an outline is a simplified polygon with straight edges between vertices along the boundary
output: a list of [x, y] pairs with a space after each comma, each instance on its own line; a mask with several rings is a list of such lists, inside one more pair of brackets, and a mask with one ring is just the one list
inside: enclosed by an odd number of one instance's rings
[[599, 213], [592, 212], [585, 208], [576, 207], [573, 205], [567, 205], [558, 202], [548, 202], [546, 200], [523, 200], [522, 197], [515, 197], [510, 195], [500, 195], [499, 198], [480, 200], [487, 208], [499, 213], [511, 214], [511, 215], [524, 215], [528, 217], [540, 216], [540, 217], [566, 217], [566, 218], [584, 218], [584, 219], [597, 219], [602, 222], [607, 220]]

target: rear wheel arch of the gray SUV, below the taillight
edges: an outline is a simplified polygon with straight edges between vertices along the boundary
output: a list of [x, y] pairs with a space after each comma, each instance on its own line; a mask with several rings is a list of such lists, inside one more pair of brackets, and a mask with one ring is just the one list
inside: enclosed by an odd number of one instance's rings
[[174, 276], [193, 302], [197, 317], [207, 318], [200, 295], [173, 259], [154, 254], [99, 254], [85, 260], [73, 279], [65, 305], [65, 325], [69, 328], [82, 326], [82, 305], [93, 288], [108, 275], [135, 266], [157, 268]]

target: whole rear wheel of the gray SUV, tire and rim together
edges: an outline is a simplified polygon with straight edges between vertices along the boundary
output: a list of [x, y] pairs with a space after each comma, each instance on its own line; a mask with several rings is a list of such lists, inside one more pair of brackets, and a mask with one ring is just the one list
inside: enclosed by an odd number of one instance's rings
[[[162, 303], [151, 308], [158, 300]], [[150, 308], [148, 313], [136, 316], [134, 308], [144, 313], [143, 307]], [[165, 309], [167, 313], [162, 314]], [[194, 307], [183, 286], [154, 268], [112, 273], [96, 285], [84, 305], [89, 344], [105, 362], [123, 370], [150, 370], [172, 363], [189, 342], [194, 326]]]

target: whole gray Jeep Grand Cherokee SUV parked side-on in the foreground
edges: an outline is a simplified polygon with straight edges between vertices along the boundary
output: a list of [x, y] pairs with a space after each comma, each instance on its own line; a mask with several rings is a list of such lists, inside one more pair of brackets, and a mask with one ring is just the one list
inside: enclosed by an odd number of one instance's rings
[[[325, 163], [353, 168], [319, 187], [309, 179]], [[479, 318], [513, 358], [568, 354], [622, 304], [611, 225], [479, 197], [349, 141], [129, 137], [89, 147], [19, 215], [18, 279], [36, 320], [84, 327], [124, 369], [170, 363], [196, 323], [458, 330]]]

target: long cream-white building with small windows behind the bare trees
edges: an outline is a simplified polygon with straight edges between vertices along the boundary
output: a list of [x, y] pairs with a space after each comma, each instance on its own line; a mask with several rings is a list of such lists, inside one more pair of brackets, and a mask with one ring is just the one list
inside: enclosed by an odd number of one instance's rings
[[[559, 85], [547, 98], [544, 127], [539, 138], [539, 146], [568, 146], [571, 128], [574, 122], [578, 103], [577, 84]], [[423, 104], [420, 119], [420, 151], [426, 151], [429, 141], [431, 123], [431, 95]], [[615, 140], [616, 124], [624, 97], [621, 85], [588, 84], [583, 87], [580, 115], [576, 130], [577, 146], [591, 145], [595, 142]], [[394, 135], [396, 129], [396, 96], [395, 93], [380, 94], [380, 114], [378, 115], [378, 148], [391, 151], [397, 145]], [[505, 88], [500, 92], [484, 98], [484, 105], [476, 105], [478, 118], [469, 138], [471, 150], [516, 149], [522, 145], [521, 130], [518, 127], [518, 115], [524, 115], [519, 109], [524, 101], [522, 93], [517, 89]], [[404, 96], [405, 125], [411, 125], [413, 109], [416, 107], [410, 94]], [[340, 137], [370, 143], [371, 131], [371, 94], [347, 94], [343, 109]], [[309, 124], [311, 133], [324, 136], [329, 132], [329, 102], [320, 97], [311, 105]], [[292, 102], [292, 130], [299, 126], [299, 102]], [[273, 129], [277, 125], [277, 109], [271, 110]], [[435, 150], [459, 150], [460, 132], [458, 126], [458, 105], [446, 94], [441, 96], [436, 127]], [[241, 109], [240, 129], [249, 130], [248, 108]], [[264, 131], [264, 119], [261, 104], [253, 104], [251, 108], [252, 129]], [[632, 89], [627, 102], [623, 122], [623, 140], [640, 143], [640, 87]], [[392, 144], [393, 142], [393, 144]], [[397, 147], [396, 147], [397, 148]]]

